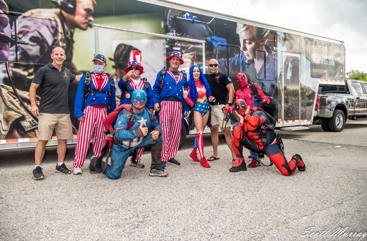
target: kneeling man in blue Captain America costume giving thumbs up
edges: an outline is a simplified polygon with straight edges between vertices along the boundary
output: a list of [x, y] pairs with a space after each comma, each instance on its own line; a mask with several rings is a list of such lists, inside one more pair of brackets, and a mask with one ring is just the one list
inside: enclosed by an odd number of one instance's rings
[[[110, 179], [121, 176], [126, 160], [134, 149], [151, 147], [152, 164], [150, 176], [167, 176], [168, 173], [160, 166], [162, 150], [162, 127], [157, 118], [145, 107], [146, 92], [136, 89], [131, 94], [132, 112], [122, 109], [113, 126], [113, 144], [111, 151], [111, 165], [105, 168], [105, 174]], [[133, 116], [132, 116], [133, 115]], [[97, 157], [91, 160], [88, 167], [90, 173], [96, 172]], [[105, 166], [102, 162], [102, 168]]]

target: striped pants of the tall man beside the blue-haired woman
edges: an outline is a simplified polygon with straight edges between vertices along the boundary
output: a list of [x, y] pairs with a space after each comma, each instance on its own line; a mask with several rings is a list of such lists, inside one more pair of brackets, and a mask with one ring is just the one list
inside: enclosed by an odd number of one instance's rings
[[181, 136], [182, 103], [163, 100], [160, 105], [159, 123], [162, 125], [162, 162], [177, 154]]

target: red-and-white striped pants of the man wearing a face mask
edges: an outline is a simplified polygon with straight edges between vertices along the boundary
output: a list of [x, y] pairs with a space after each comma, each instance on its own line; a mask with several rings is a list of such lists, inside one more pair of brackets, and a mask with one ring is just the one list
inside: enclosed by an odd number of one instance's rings
[[102, 123], [103, 119], [107, 117], [106, 107], [97, 108], [88, 105], [84, 110], [84, 114], [86, 117], [79, 125], [73, 168], [83, 166], [91, 140], [93, 155], [99, 156], [106, 139], [104, 133], [106, 128]]

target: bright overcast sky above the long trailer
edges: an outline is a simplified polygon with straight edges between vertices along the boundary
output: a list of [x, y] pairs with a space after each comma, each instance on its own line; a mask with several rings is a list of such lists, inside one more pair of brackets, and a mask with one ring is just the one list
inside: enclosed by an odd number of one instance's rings
[[367, 72], [367, 0], [176, 0], [174, 2], [343, 41], [346, 71], [353, 68]]

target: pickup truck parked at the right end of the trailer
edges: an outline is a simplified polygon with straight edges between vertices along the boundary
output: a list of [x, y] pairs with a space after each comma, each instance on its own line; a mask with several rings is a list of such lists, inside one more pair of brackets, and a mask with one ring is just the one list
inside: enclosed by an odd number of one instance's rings
[[345, 85], [319, 85], [313, 123], [339, 132], [347, 119], [367, 119], [367, 82], [347, 79]]

